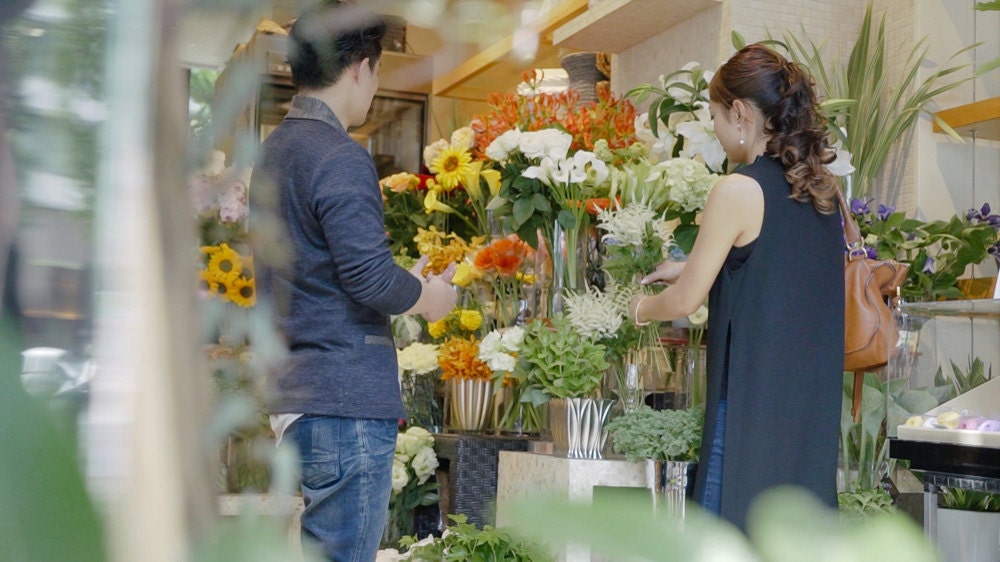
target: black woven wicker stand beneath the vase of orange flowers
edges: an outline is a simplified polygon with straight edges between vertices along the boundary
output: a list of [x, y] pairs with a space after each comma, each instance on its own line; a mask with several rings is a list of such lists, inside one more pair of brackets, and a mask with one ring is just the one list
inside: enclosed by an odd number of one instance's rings
[[527, 451], [529, 444], [523, 437], [435, 433], [441, 519], [462, 514], [478, 527], [493, 525], [500, 451]]

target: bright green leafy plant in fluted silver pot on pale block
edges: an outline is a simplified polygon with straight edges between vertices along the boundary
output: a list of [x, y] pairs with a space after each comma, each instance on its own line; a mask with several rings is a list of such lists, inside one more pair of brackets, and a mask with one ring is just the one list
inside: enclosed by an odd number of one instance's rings
[[573, 329], [562, 314], [525, 327], [514, 376], [521, 400], [549, 404], [552, 440], [573, 458], [601, 458], [604, 421], [614, 400], [596, 398], [608, 368], [604, 345]]

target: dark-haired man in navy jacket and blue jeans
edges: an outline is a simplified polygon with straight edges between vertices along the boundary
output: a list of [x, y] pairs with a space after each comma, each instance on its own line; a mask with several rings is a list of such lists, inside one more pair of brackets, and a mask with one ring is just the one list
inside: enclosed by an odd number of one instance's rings
[[299, 449], [304, 537], [345, 562], [375, 559], [406, 417], [389, 315], [434, 320], [456, 299], [451, 272], [424, 279], [393, 262], [374, 162], [345, 130], [365, 121], [378, 89], [384, 33], [346, 3], [298, 19], [288, 60], [299, 92], [251, 182], [251, 193], [276, 190], [293, 252], [261, 276], [290, 351], [272, 426]]

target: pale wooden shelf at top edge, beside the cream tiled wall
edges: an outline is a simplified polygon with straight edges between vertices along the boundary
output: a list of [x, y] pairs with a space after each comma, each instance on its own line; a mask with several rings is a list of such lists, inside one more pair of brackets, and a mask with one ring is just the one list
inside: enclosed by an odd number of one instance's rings
[[720, 3], [720, 0], [602, 0], [557, 28], [552, 41], [571, 49], [620, 53]]

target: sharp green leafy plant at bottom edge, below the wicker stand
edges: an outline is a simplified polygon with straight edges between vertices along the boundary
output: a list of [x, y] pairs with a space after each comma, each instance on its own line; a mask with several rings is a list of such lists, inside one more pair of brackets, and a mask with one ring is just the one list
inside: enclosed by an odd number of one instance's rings
[[[484, 525], [482, 529], [466, 522], [464, 515], [449, 515], [454, 521], [444, 536], [430, 544], [410, 549], [410, 560], [425, 562], [546, 562], [552, 556], [540, 545], [517, 538], [500, 529]], [[404, 537], [400, 544], [411, 547], [416, 537]]]

